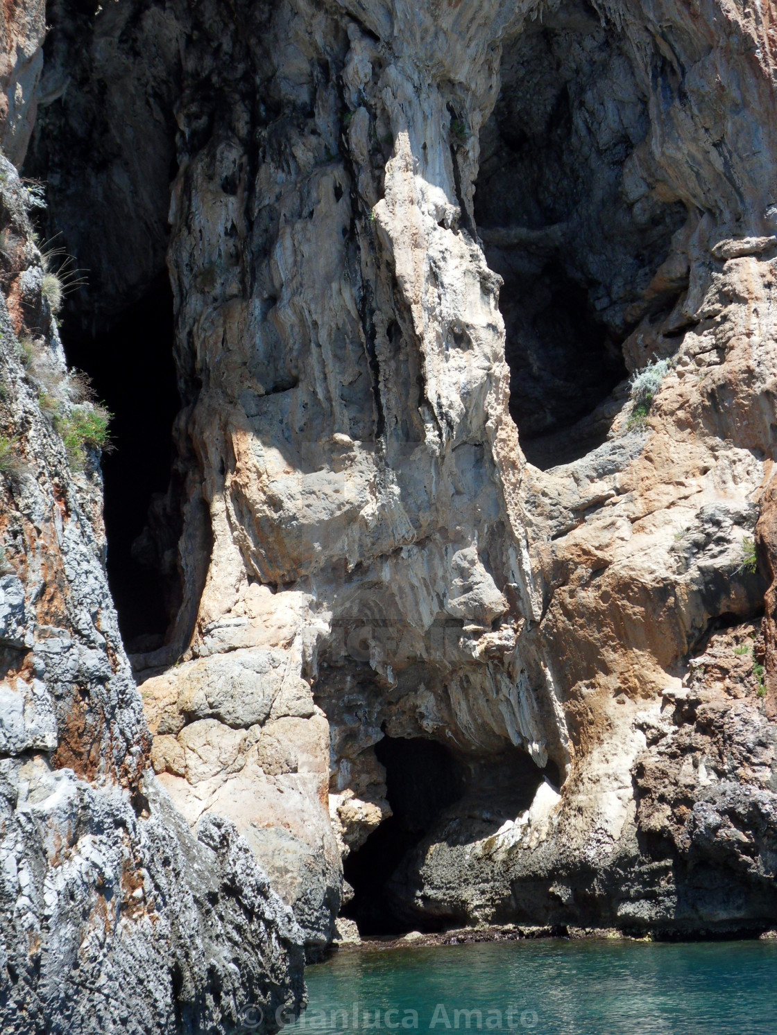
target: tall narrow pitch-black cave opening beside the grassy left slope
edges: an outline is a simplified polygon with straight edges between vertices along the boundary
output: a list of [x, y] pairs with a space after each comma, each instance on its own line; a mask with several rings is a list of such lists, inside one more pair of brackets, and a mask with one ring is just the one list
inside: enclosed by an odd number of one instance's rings
[[108, 582], [127, 649], [153, 650], [170, 621], [169, 579], [143, 565], [133, 543], [152, 497], [170, 483], [172, 426], [180, 410], [173, 358], [173, 293], [166, 273], [143, 296], [94, 331], [66, 320], [62, 339], [70, 365], [91, 380], [113, 414], [111, 449], [103, 456]]

